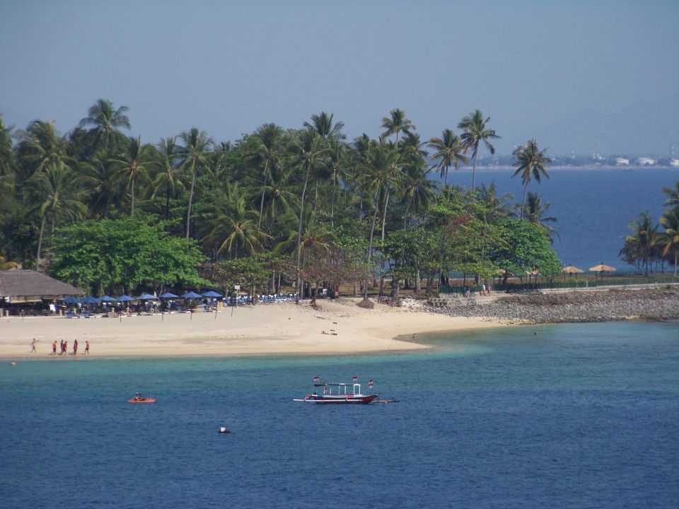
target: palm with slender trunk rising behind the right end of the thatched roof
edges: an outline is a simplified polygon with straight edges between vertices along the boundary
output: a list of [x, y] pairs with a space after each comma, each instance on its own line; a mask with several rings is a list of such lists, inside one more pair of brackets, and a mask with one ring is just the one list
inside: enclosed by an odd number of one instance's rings
[[52, 221], [52, 233], [58, 221], [76, 220], [86, 215], [87, 207], [80, 201], [80, 192], [74, 185], [74, 173], [63, 163], [51, 163], [44, 172], [37, 173], [30, 181], [30, 192], [39, 203], [40, 236], [37, 240], [35, 267], [40, 270], [42, 237], [45, 233], [47, 218]]

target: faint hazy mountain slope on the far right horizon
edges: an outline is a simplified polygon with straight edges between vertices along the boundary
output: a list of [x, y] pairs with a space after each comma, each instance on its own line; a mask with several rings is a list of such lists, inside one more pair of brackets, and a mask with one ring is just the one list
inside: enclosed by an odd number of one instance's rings
[[[668, 158], [673, 136], [674, 157], [679, 158], [679, 94], [648, 100], [605, 115], [586, 110], [538, 130], [541, 147], [551, 156], [646, 156]], [[598, 148], [597, 148], [598, 140]]]

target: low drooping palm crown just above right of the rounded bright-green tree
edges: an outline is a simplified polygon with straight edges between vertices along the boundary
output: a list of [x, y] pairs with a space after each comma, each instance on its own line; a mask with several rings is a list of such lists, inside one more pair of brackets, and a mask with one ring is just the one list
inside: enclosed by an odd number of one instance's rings
[[219, 191], [204, 220], [202, 228], [207, 235], [203, 240], [219, 244], [217, 255], [226, 250], [230, 256], [238, 257], [239, 249], [254, 254], [263, 250], [262, 242], [269, 238], [257, 226], [257, 211], [246, 208], [238, 183], [226, 183], [226, 192]]

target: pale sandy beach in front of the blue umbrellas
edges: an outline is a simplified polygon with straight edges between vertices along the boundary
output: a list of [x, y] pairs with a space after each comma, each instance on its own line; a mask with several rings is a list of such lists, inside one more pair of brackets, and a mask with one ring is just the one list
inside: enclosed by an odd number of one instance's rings
[[[364, 310], [356, 307], [358, 301], [323, 300], [316, 310], [308, 303], [247, 305], [224, 308], [216, 315], [196, 312], [120, 319], [2, 318], [0, 358], [51, 357], [54, 340], [57, 351], [60, 341], [68, 341], [71, 353], [74, 339], [79, 342], [79, 357], [85, 350], [85, 341], [90, 342], [91, 358], [398, 351], [429, 346], [396, 337], [506, 325], [500, 320], [448, 317], [377, 303], [373, 310]], [[37, 353], [29, 353], [33, 338], [40, 341]]]

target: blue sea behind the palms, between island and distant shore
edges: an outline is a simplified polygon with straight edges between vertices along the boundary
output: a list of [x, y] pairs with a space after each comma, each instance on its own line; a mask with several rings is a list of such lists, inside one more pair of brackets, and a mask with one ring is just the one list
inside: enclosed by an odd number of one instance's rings
[[[512, 173], [477, 171], [477, 185], [494, 182], [499, 194], [513, 194], [511, 203], [521, 204], [521, 177], [511, 178]], [[451, 185], [470, 187], [471, 179], [470, 171], [448, 174]], [[530, 182], [528, 192], [537, 192], [542, 201], [552, 203], [548, 215], [557, 218], [551, 224], [561, 235], [554, 246], [564, 264], [587, 269], [604, 262], [619, 270], [633, 270], [618, 256], [629, 234], [627, 225], [642, 212], [658, 223], [667, 198], [662, 189], [674, 188], [677, 180], [679, 170], [675, 169], [551, 170], [550, 178], [543, 178], [540, 185]]]

